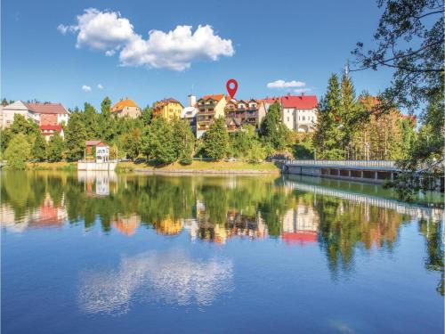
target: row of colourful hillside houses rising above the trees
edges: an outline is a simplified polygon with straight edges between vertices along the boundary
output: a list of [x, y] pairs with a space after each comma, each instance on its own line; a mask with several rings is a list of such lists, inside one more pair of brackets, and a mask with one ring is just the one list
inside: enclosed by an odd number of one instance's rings
[[[291, 95], [250, 98], [247, 100], [232, 99], [225, 94], [207, 94], [197, 100], [190, 94], [187, 105], [170, 97], [153, 104], [153, 118], [165, 118], [167, 122], [182, 118], [189, 122], [197, 138], [202, 137], [215, 118], [225, 118], [228, 131], [235, 131], [242, 126], [259, 128], [267, 110], [274, 102], [282, 108], [281, 121], [291, 131], [310, 133], [317, 122], [318, 100], [315, 95]], [[141, 107], [132, 99], [125, 97], [110, 108], [117, 118], [138, 118]], [[0, 124], [2, 129], [12, 126], [15, 115], [21, 115], [39, 126], [47, 142], [53, 134], [64, 137], [63, 126], [69, 121], [70, 111], [59, 102], [24, 102], [16, 101], [0, 106]]]

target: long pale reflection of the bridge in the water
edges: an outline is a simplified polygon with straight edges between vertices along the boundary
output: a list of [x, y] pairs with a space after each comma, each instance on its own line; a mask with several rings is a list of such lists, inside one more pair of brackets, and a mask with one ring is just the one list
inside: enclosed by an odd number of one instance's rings
[[379, 208], [389, 208], [395, 210], [402, 215], [409, 215], [415, 218], [423, 218], [427, 220], [440, 221], [443, 216], [443, 209], [441, 208], [427, 208], [416, 205], [410, 205], [398, 200], [384, 199], [376, 196], [369, 196], [355, 192], [340, 191], [320, 185], [297, 183], [295, 181], [285, 181], [285, 185], [293, 190], [311, 191], [316, 194], [325, 196], [334, 196], [344, 200], [351, 200], [352, 202], [363, 203], [368, 206], [375, 206]]

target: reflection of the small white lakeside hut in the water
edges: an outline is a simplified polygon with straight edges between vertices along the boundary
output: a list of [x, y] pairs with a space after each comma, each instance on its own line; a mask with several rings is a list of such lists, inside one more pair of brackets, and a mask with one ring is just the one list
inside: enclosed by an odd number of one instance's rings
[[110, 183], [111, 191], [117, 191], [117, 174], [113, 171], [77, 170], [77, 180], [84, 183], [85, 193], [89, 196], [108, 196]]

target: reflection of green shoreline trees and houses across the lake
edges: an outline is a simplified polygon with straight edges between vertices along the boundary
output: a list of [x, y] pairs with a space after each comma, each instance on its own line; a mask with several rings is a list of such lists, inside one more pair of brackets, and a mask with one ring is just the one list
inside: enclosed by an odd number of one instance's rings
[[[101, 224], [105, 232], [115, 228], [126, 235], [140, 225], [168, 235], [186, 228], [191, 238], [222, 243], [236, 236], [255, 240], [283, 232], [299, 237], [307, 225], [334, 275], [352, 270], [357, 248], [392, 251], [401, 223], [409, 221], [409, 216], [366, 202], [289, 190], [274, 176], [120, 175], [109, 179], [107, 196], [90, 191], [94, 184], [86, 183], [94, 180], [86, 180], [70, 173], [8, 172], [2, 176], [1, 203], [19, 221], [49, 196], [54, 207], [63, 203], [71, 224], [85, 228]], [[283, 224], [292, 228], [283, 229]], [[438, 290], [443, 294], [441, 228], [419, 224], [428, 254], [425, 267], [441, 272]]]

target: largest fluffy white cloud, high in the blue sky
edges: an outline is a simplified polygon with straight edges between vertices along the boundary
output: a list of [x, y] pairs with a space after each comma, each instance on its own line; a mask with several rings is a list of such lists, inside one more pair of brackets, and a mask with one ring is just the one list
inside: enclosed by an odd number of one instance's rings
[[86, 9], [77, 16], [77, 25], [59, 25], [62, 34], [77, 33], [77, 48], [104, 51], [107, 56], [119, 53], [123, 66], [148, 66], [157, 69], [183, 70], [193, 61], [217, 61], [231, 57], [235, 51], [231, 39], [214, 34], [209, 25], [176, 26], [168, 32], [150, 30], [147, 39], [134, 32], [129, 20], [119, 12]]

